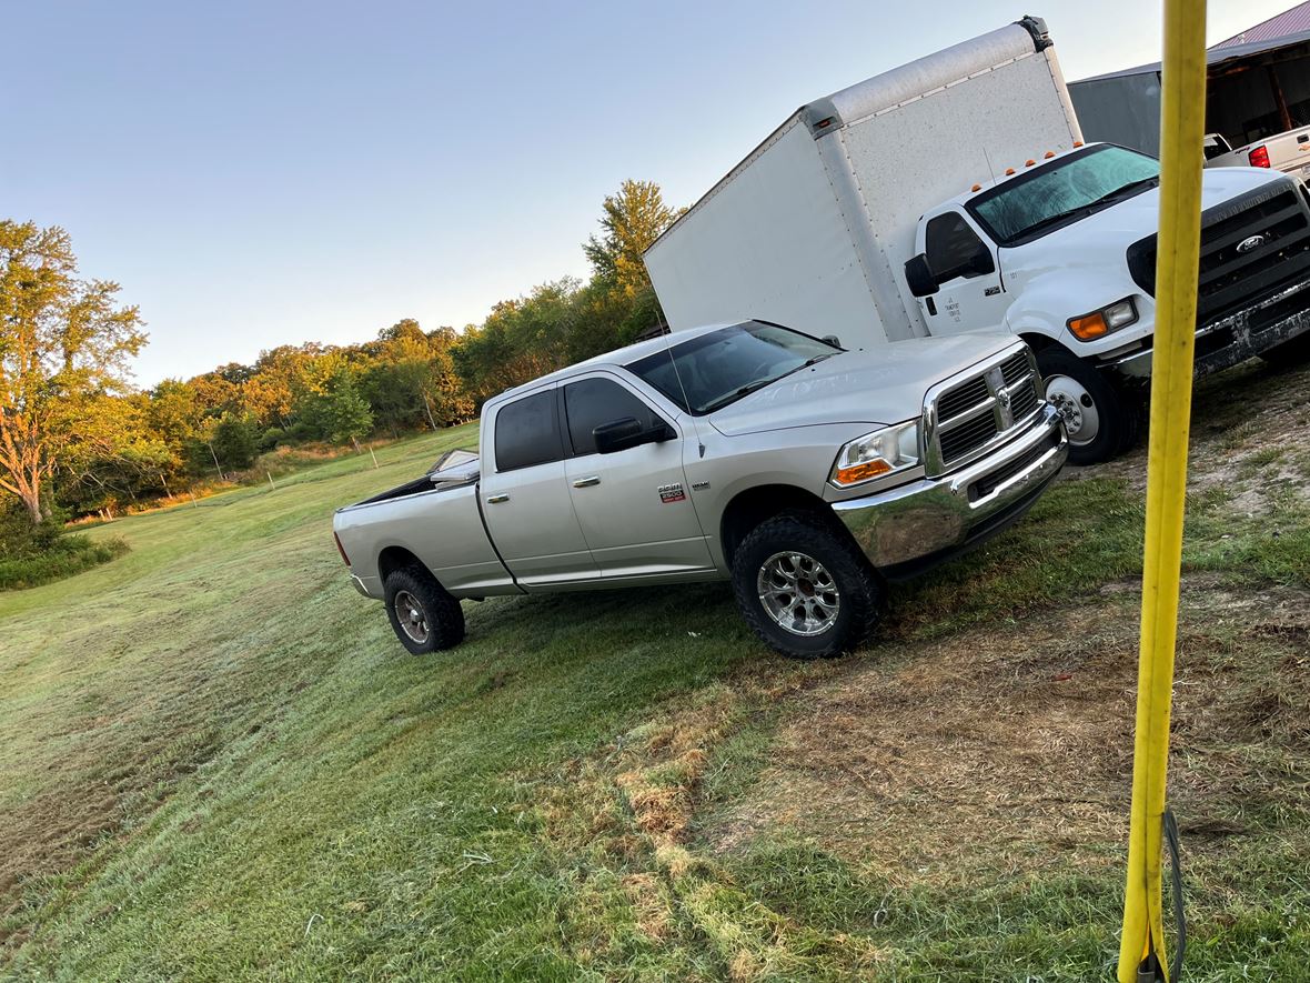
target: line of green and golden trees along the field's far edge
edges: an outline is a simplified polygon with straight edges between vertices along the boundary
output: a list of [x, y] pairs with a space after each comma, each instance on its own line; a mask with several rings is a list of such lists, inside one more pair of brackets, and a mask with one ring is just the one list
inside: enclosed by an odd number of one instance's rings
[[676, 218], [658, 185], [625, 181], [583, 244], [586, 282], [537, 286], [462, 332], [403, 318], [358, 345], [282, 345], [151, 389], [130, 380], [147, 336], [119, 286], [79, 277], [62, 228], [0, 220], [0, 514], [33, 527], [113, 514], [279, 447], [358, 448], [472, 419], [508, 387], [658, 328], [641, 257]]

